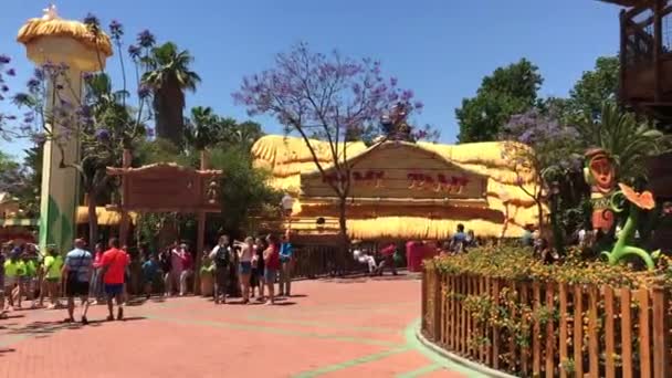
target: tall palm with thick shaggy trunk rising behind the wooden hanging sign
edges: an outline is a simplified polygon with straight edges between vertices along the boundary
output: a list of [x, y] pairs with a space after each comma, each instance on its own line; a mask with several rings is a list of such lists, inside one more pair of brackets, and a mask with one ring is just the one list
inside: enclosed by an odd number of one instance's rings
[[157, 136], [177, 146], [182, 144], [185, 129], [185, 91], [196, 91], [201, 81], [189, 70], [192, 62], [189, 51], [180, 51], [172, 42], [154, 48], [145, 61], [148, 71], [143, 75], [143, 83], [154, 88]]

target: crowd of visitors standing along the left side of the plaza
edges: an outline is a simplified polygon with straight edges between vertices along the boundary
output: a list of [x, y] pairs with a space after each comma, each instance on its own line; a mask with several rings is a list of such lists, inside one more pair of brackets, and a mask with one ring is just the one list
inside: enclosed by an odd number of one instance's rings
[[[75, 322], [75, 300], [82, 303], [81, 322], [87, 324], [91, 304], [107, 304], [107, 321], [124, 319], [124, 306], [128, 301], [130, 262], [128, 249], [119, 246], [112, 238], [107, 249], [96, 244], [93, 253], [83, 239], [74, 241], [74, 248], [62, 256], [53, 248], [40, 253], [34, 244], [8, 243], [0, 253], [0, 318], [24, 302], [31, 308], [44, 306], [55, 309], [65, 307], [65, 322]], [[140, 280], [147, 298], [153, 294], [174, 296], [188, 295], [189, 282], [195, 276], [195, 255], [186, 243], [174, 243], [161, 252], [140, 248]], [[293, 265], [292, 244], [288, 235], [279, 239], [274, 234], [266, 238], [245, 238], [235, 241], [228, 235], [219, 238], [213, 249], [206, 249], [201, 255], [203, 266], [214, 270], [214, 303], [224, 304], [227, 297], [242, 296], [248, 304], [256, 293], [258, 302], [275, 304], [279, 296], [291, 295]], [[162, 284], [157, 291], [156, 282]], [[275, 284], [279, 290], [275, 291]], [[66, 297], [66, 304], [61, 297]], [[116, 303], [116, 317], [114, 304]]]

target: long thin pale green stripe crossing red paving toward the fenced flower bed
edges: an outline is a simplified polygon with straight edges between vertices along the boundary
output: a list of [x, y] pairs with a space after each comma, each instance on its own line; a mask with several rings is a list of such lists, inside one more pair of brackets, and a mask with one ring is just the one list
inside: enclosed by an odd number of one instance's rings
[[199, 319], [185, 319], [154, 314], [145, 314], [149, 319], [157, 319], [164, 322], [171, 322], [178, 324], [197, 324], [197, 325], [206, 325], [219, 328], [229, 328], [229, 329], [240, 329], [240, 330], [253, 330], [253, 332], [263, 332], [269, 334], [279, 334], [279, 335], [290, 335], [290, 336], [298, 336], [298, 337], [308, 337], [308, 338], [317, 338], [317, 339], [332, 339], [338, 342], [347, 342], [347, 343], [359, 343], [359, 344], [369, 344], [369, 345], [382, 345], [382, 346], [397, 346], [398, 343], [385, 342], [385, 340], [374, 340], [361, 337], [351, 337], [351, 336], [338, 336], [334, 334], [321, 334], [313, 332], [301, 332], [301, 330], [290, 330], [282, 329], [276, 327], [265, 327], [260, 325], [246, 325], [246, 324], [235, 324], [235, 323], [225, 323], [225, 322], [214, 322], [214, 321], [199, 321]]

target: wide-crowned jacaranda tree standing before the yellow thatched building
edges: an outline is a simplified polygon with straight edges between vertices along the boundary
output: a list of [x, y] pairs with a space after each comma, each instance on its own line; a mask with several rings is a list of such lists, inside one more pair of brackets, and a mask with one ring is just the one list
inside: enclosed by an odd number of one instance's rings
[[411, 91], [402, 91], [396, 78], [384, 78], [380, 63], [354, 60], [334, 52], [313, 52], [301, 43], [277, 54], [275, 66], [243, 78], [233, 94], [250, 115], [272, 115], [287, 133], [301, 135], [323, 177], [326, 166], [317, 157], [315, 138], [329, 146], [330, 160], [338, 177], [325, 180], [339, 199], [339, 225], [347, 245], [346, 200], [350, 189], [350, 166], [346, 144], [351, 135], [377, 124], [400, 104], [407, 114], [422, 105], [413, 102]]

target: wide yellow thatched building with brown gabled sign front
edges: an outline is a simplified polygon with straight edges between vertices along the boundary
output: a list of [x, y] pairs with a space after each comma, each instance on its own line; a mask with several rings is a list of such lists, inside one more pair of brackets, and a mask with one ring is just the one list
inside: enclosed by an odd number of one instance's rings
[[[297, 199], [292, 230], [300, 237], [338, 232], [338, 199], [327, 143], [313, 141], [323, 176], [301, 138], [266, 136], [252, 147], [270, 185]], [[459, 223], [480, 237], [518, 237], [537, 223], [529, 174], [516, 175], [502, 157], [504, 144], [437, 145], [386, 141], [367, 148], [349, 144], [339, 159], [350, 168], [347, 229], [351, 239], [445, 239]], [[517, 182], [516, 182], [517, 180]], [[522, 181], [521, 181], [522, 180]]]

